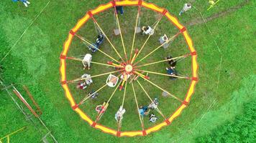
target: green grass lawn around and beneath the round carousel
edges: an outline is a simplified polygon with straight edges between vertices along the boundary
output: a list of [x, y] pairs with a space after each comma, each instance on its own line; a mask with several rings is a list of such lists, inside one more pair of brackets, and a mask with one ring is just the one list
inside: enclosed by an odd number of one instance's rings
[[[22, 32], [29, 26], [39, 14], [40, 10], [47, 4], [47, 1], [31, 1], [29, 8], [25, 8], [22, 4], [13, 4], [12, 1], [2, 1], [0, 6], [0, 57], [3, 57], [12, 45], [19, 39]], [[134, 138], [116, 138], [109, 134], [104, 134], [96, 129], [91, 128], [84, 122], [78, 114], [70, 109], [70, 105], [65, 99], [63, 89], [60, 86], [59, 75], [59, 56], [63, 48], [68, 31], [76, 24], [76, 21], [85, 14], [86, 11], [98, 6], [107, 1], [51, 1], [49, 6], [42, 12], [34, 24], [24, 34], [22, 40], [9, 56], [6, 57], [1, 65], [4, 67], [4, 72], [1, 77], [5, 83], [16, 83], [20, 90], [21, 84], [27, 85], [34, 95], [40, 107], [43, 110], [42, 119], [47, 124], [47, 127], [52, 130], [52, 134], [59, 142], [195, 142], [196, 137], [201, 137], [210, 134], [216, 128], [215, 125], [224, 124], [227, 121], [232, 121], [234, 117], [242, 114], [242, 104], [250, 102], [255, 97], [255, 21], [252, 19], [255, 16], [255, 2], [250, 1], [250, 4], [234, 11], [228, 16], [221, 17], [214, 21], [209, 21], [209, 27], [214, 33], [214, 37], [221, 48], [223, 54], [223, 63], [220, 72], [219, 91], [216, 93], [218, 81], [219, 59], [220, 54], [216, 49], [216, 45], [212, 40], [209, 32], [204, 24], [196, 26], [188, 26], [188, 32], [193, 39], [194, 46], [198, 52], [199, 63], [199, 78], [200, 81], [196, 87], [196, 92], [191, 99], [189, 107], [175, 121], [159, 132], [148, 135], [147, 137]], [[242, 0], [220, 1], [218, 6], [211, 11], [206, 11], [208, 1], [196, 1], [193, 4], [202, 9], [204, 16], [211, 16], [219, 11], [229, 9], [242, 2]], [[157, 1], [155, 4], [163, 6], [175, 16], [182, 7], [184, 1]], [[125, 27], [124, 41], [127, 49], [132, 43], [132, 29], [136, 16], [136, 9], [129, 7], [125, 8], [125, 15], [120, 16], [120, 23]], [[155, 21], [155, 16], [152, 11], [143, 9], [142, 25], [152, 24]], [[186, 14], [178, 17], [181, 23], [186, 23], [190, 19], [199, 17], [195, 9], [191, 9]], [[119, 36], [112, 35], [113, 16], [112, 11], [106, 11], [99, 16], [96, 16], [99, 24], [106, 30], [114, 45], [118, 45], [118, 50], [122, 51], [121, 39]], [[166, 30], [166, 31], [165, 31]], [[141, 57], [147, 54], [150, 50], [157, 46], [157, 39], [163, 33], [175, 34], [175, 29], [171, 24], [168, 24], [166, 19], [160, 22], [157, 32], [145, 46], [145, 50]], [[91, 21], [79, 31], [79, 34], [88, 37], [91, 41], [95, 39], [95, 31]], [[145, 40], [143, 36], [137, 36], [136, 47], [140, 47]], [[111, 46], [104, 42], [103, 50], [117, 57]], [[145, 61], [155, 61], [163, 59], [166, 54], [171, 53], [173, 56], [184, 54], [188, 51], [186, 44], [181, 36], [176, 39], [168, 51], [160, 49], [153, 56]], [[87, 49], [81, 44], [78, 39], [74, 39], [69, 55], [86, 54]], [[130, 51], [127, 50], [129, 53]], [[164, 54], [163, 54], [164, 53]], [[106, 58], [97, 52], [93, 54], [93, 61], [106, 62]], [[184, 74], [190, 74], [191, 69], [187, 68], [190, 65], [191, 59], [185, 59], [178, 63], [178, 71]], [[68, 61], [68, 79], [80, 77], [83, 74], [81, 63], [77, 61]], [[162, 70], [166, 66], [165, 63], [157, 66], [150, 66], [150, 70]], [[103, 69], [104, 66], [96, 66], [93, 64], [91, 72], [93, 74], [106, 72], [111, 68]], [[99, 70], [101, 69], [101, 71]], [[188, 71], [189, 70], [189, 71]], [[87, 72], [87, 71], [86, 71]], [[162, 71], [164, 72], [164, 71]], [[93, 75], [92, 74], [92, 75]], [[150, 74], [155, 83], [160, 84], [170, 92], [177, 93], [177, 96], [182, 98], [188, 88], [188, 82], [178, 80], [171, 82], [165, 77], [155, 76]], [[155, 80], [155, 78], [160, 78]], [[90, 88], [97, 89], [101, 84], [104, 84], [106, 77], [103, 79], [96, 78], [93, 80], [93, 86]], [[140, 80], [143, 82], [142, 80]], [[244, 81], [244, 82], [242, 82]], [[163, 84], [168, 82], [170, 84]], [[160, 97], [160, 91], [150, 88], [149, 84], [145, 87], [150, 91], [150, 96], [160, 98], [160, 109], [163, 109], [164, 114], [170, 114], [178, 107], [178, 102], [174, 99], [163, 99]], [[175, 88], [173, 88], [175, 86]], [[186, 87], [187, 86], [187, 87]], [[247, 87], [247, 88], [245, 88]], [[87, 92], [78, 91], [75, 85], [70, 85], [70, 89], [74, 94], [76, 101], [80, 101]], [[149, 104], [145, 94], [135, 84], [139, 104]], [[105, 89], [100, 93], [99, 99], [87, 102], [82, 108], [86, 113], [95, 119], [96, 113], [94, 107], [96, 104], [101, 104], [108, 98], [114, 89]], [[246, 91], [246, 92], [242, 92]], [[140, 121], [136, 114], [136, 105], [131, 86], [127, 89], [127, 99], [125, 107], [127, 113], [124, 115], [124, 124], [122, 129], [134, 130], [140, 129]], [[23, 115], [18, 112], [17, 108], [12, 103], [11, 99], [6, 96], [5, 92], [0, 92], [0, 137], [9, 132], [19, 129], [23, 126], [28, 126], [25, 132], [21, 132], [12, 137], [12, 142], [40, 142], [40, 134], [35, 132], [35, 129], [25, 121]], [[216, 104], [209, 111], [209, 105], [213, 102], [216, 95]], [[243, 98], [242, 98], [243, 97]], [[122, 102], [122, 92], [116, 92], [111, 102], [108, 111], [104, 114], [100, 123], [106, 124], [109, 127], [116, 129], [114, 121], [114, 113]], [[236, 112], [234, 112], [236, 111]], [[204, 119], [201, 117], [206, 113]], [[229, 113], [229, 114], [227, 114]], [[129, 117], [126, 119], [125, 117]], [[160, 122], [160, 121], [159, 121]], [[198, 126], [197, 126], [198, 124]], [[152, 124], [146, 124], [147, 127]], [[186, 138], [186, 139], [184, 139]]]

